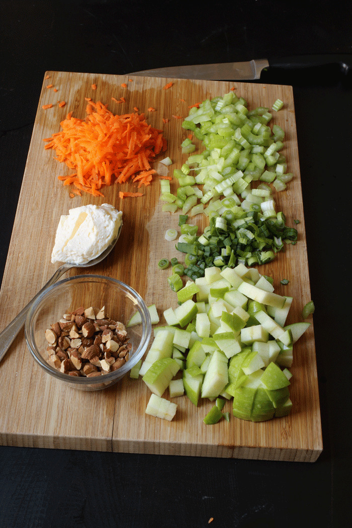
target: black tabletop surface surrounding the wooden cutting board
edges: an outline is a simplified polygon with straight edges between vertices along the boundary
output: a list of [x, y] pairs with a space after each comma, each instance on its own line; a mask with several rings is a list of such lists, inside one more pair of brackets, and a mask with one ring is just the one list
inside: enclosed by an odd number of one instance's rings
[[[315, 53], [344, 54], [351, 63], [350, 5], [1, 1], [0, 280], [46, 70], [123, 74]], [[351, 469], [351, 73], [333, 64], [269, 70], [264, 80], [293, 86], [316, 305], [322, 455], [303, 464], [3, 446], [0, 526], [198, 528], [211, 517], [214, 528], [345, 526]]]

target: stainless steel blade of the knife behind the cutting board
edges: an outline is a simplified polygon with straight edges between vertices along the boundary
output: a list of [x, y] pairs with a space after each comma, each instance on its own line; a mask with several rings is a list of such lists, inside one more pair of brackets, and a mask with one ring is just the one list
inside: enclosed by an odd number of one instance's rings
[[156, 68], [129, 73], [140, 77], [167, 77], [169, 79], [201, 79], [207, 81], [240, 81], [260, 78], [263, 68], [268, 68], [267, 59], [248, 62], [224, 62], [220, 64], [196, 64]]

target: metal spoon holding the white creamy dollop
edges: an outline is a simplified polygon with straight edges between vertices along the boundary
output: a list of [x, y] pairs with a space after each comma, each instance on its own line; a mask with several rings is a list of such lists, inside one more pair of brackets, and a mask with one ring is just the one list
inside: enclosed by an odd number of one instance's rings
[[66, 273], [66, 271], [69, 271], [69, 269], [71, 269], [71, 268], [89, 268], [90, 266], [95, 266], [96, 264], [101, 262], [105, 257], [108, 256], [110, 251], [112, 251], [112, 249], [115, 247], [115, 244], [116, 244], [116, 242], [117, 242], [117, 240], [118, 240], [118, 238], [120, 236], [121, 228], [122, 228], [122, 224], [120, 225], [120, 228], [119, 228], [119, 230], [117, 232], [117, 235], [116, 235], [115, 239], [113, 239], [113, 241], [111, 242], [110, 246], [108, 246], [95, 259], [92, 259], [92, 260], [90, 260], [89, 262], [87, 262], [85, 264], [72, 264], [71, 262], [66, 262], [65, 264], [60, 266], [60, 268], [58, 268], [55, 271], [54, 275], [51, 277], [51, 279], [49, 279], [46, 282], [45, 286], [43, 286], [43, 288], [33, 297], [33, 299], [30, 300], [30, 302], [27, 304], [27, 306], [25, 306], [23, 308], [22, 312], [20, 312], [17, 315], [17, 317], [15, 317], [13, 319], [13, 321], [8, 326], [6, 326], [6, 328], [0, 334], [0, 361], [3, 359], [4, 355], [8, 351], [9, 347], [12, 345], [15, 337], [17, 336], [17, 334], [20, 332], [21, 328], [23, 327], [23, 325], [25, 323], [25, 320], [26, 320], [26, 317], [27, 317], [28, 310], [30, 309], [33, 301], [37, 297], [39, 297], [39, 295], [42, 294], [43, 291], [46, 290], [46, 288], [49, 288], [49, 286], [54, 284], [54, 282], [56, 282], [56, 280], [58, 280], [59, 277], [61, 277], [61, 275]]

